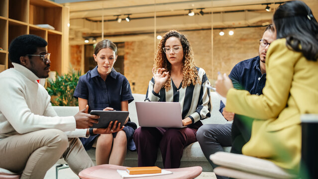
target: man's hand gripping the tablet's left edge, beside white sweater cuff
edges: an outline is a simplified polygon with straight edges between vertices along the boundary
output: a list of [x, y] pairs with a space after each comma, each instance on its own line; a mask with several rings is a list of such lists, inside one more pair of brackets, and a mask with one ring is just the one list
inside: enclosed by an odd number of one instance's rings
[[87, 129], [93, 126], [93, 123], [98, 123], [97, 119], [100, 118], [100, 116], [88, 114], [88, 108], [89, 106], [86, 105], [83, 110], [75, 114], [76, 128]]

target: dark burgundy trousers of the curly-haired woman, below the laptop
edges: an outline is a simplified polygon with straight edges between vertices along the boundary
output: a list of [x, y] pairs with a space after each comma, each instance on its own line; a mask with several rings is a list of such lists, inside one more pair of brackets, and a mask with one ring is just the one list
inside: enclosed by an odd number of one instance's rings
[[164, 168], [179, 168], [183, 149], [197, 141], [197, 130], [190, 127], [139, 127], [133, 135], [138, 154], [138, 167], [154, 166], [159, 147]]

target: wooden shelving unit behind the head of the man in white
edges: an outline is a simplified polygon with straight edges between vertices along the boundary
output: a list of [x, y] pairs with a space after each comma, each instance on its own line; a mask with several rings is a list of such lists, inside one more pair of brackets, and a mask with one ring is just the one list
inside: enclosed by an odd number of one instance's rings
[[[5, 69], [13, 67], [8, 59], [11, 41], [19, 35], [34, 34], [48, 42], [51, 53], [51, 71], [63, 73], [63, 64], [68, 63], [68, 8], [50, 0], [0, 0], [0, 65]], [[49, 24], [55, 30], [38, 27]], [[65, 37], [66, 36], [66, 37]], [[62, 62], [63, 59], [63, 62]]]

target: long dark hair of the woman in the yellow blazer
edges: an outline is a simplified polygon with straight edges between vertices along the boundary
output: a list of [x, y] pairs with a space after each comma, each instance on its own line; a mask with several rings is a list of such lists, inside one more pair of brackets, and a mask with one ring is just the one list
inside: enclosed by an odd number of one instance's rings
[[275, 11], [273, 20], [277, 38], [286, 38], [288, 47], [317, 61], [318, 23], [308, 5], [299, 0], [286, 2]]

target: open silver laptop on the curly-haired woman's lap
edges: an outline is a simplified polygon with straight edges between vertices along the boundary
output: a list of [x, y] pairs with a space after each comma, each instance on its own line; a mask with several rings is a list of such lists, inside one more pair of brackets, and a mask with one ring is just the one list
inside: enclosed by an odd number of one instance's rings
[[136, 102], [136, 110], [141, 127], [184, 127], [179, 102]]

